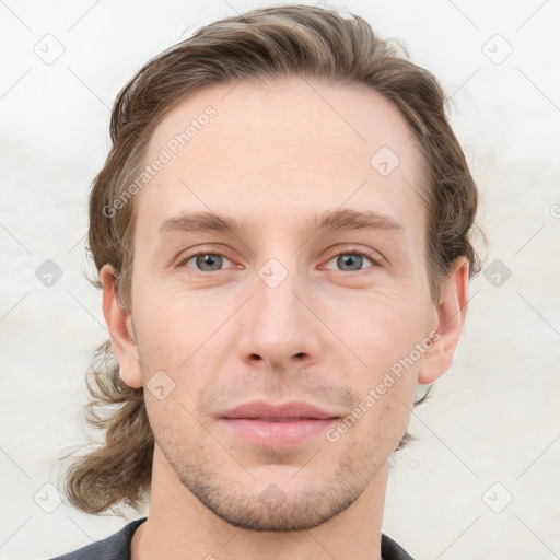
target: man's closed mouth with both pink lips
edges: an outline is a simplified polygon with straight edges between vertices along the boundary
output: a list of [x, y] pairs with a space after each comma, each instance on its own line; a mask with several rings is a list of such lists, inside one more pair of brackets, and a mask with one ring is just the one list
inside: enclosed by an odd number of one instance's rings
[[316, 438], [340, 418], [337, 412], [302, 401], [276, 406], [253, 401], [222, 412], [219, 423], [253, 445], [288, 447]]

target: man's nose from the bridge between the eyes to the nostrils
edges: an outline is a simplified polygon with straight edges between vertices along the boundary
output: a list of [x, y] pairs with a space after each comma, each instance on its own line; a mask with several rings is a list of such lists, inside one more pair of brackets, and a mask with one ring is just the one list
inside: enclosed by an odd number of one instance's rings
[[242, 358], [258, 357], [276, 366], [304, 357], [316, 358], [316, 319], [301, 301], [303, 285], [296, 259], [288, 262], [270, 258], [257, 270], [252, 284], [255, 295], [246, 311], [238, 346]]

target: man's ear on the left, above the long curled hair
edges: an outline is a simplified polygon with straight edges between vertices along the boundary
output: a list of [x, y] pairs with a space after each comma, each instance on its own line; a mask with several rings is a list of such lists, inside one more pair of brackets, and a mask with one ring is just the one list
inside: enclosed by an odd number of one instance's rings
[[120, 377], [130, 387], [142, 386], [142, 374], [138, 361], [138, 346], [132, 330], [132, 320], [117, 296], [115, 270], [104, 265], [100, 271], [103, 285], [103, 315], [109, 329], [113, 352], [120, 365]]

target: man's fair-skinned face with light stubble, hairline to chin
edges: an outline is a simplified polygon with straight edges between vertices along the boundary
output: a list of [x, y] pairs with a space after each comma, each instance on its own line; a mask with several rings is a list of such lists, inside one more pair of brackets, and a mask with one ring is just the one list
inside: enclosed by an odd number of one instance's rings
[[[215, 115], [173, 154], [172, 139], [208, 105]], [[383, 472], [407, 429], [422, 357], [383, 395], [376, 387], [438, 324], [410, 130], [375, 92], [278, 80], [198, 92], [159, 124], [145, 164], [162, 149], [171, 161], [133, 201], [131, 292], [133, 375], [145, 385], [158, 374], [159, 388], [145, 390], [156, 445], [221, 518], [316, 526]], [[349, 210], [378, 218], [371, 228], [317, 226]], [[195, 212], [244, 228], [163, 225]], [[257, 400], [305, 401], [340, 418], [222, 418]], [[347, 416], [352, 427], [338, 430]]]

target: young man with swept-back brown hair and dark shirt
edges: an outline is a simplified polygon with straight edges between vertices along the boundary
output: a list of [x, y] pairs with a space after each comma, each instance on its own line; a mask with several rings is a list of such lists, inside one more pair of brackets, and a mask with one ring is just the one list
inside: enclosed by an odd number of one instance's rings
[[91, 406], [117, 407], [67, 494], [149, 515], [60, 558], [411, 558], [382, 534], [388, 460], [479, 270], [444, 101], [304, 5], [209, 25], [120, 92], [89, 236]]

